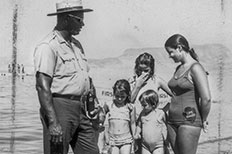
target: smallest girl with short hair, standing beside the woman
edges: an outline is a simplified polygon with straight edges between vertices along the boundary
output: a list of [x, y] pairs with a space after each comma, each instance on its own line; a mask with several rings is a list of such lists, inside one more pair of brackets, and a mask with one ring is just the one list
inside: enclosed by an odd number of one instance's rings
[[[158, 94], [147, 90], [139, 97], [143, 107], [138, 118], [135, 139], [142, 139], [142, 154], [164, 154], [167, 137], [166, 118], [163, 110], [158, 109]], [[141, 135], [140, 135], [141, 133]]]

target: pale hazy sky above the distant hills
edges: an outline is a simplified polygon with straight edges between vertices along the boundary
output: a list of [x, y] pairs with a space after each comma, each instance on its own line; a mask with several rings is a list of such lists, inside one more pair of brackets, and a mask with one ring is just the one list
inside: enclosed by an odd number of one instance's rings
[[[12, 55], [12, 16], [18, 4], [18, 62], [32, 65], [36, 44], [56, 23], [60, 0], [0, 0], [0, 56]], [[83, 0], [85, 14], [77, 38], [89, 58], [119, 56], [128, 48], [163, 47], [174, 33], [191, 44], [220, 43], [231, 48], [231, 0]]]

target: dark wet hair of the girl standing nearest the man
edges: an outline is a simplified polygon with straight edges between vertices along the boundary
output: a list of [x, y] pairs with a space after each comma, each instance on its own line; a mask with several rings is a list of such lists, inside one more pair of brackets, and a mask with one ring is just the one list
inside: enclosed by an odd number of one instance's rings
[[115, 94], [116, 91], [118, 92], [125, 92], [127, 94], [126, 102], [131, 102], [131, 89], [129, 81], [125, 79], [117, 80], [113, 86], [113, 93]]

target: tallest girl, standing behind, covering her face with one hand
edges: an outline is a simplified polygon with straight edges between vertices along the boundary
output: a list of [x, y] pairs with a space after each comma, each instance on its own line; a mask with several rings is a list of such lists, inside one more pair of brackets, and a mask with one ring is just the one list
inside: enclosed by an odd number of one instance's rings
[[135, 75], [129, 79], [132, 87], [131, 102], [136, 107], [136, 117], [142, 111], [139, 97], [149, 89], [158, 92], [160, 89], [172, 96], [171, 90], [165, 80], [155, 73], [155, 59], [150, 53], [142, 53], [135, 60]]

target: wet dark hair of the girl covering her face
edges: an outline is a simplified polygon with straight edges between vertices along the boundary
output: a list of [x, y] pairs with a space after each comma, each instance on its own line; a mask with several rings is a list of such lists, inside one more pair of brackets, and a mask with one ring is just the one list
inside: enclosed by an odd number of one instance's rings
[[154, 75], [154, 69], [155, 69], [155, 59], [153, 58], [153, 56], [147, 52], [144, 52], [142, 54], [140, 54], [136, 60], [135, 60], [135, 73], [138, 75], [138, 67], [139, 65], [146, 65], [148, 67], [151, 68], [151, 72], [150, 75], [153, 76]]

